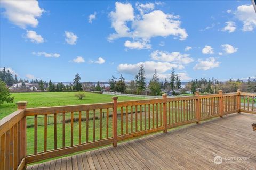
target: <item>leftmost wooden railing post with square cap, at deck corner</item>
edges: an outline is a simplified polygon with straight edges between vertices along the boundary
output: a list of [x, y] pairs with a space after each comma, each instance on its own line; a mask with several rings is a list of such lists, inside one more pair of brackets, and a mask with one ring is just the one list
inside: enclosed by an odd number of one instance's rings
[[[19, 101], [16, 103], [18, 109], [26, 109], [27, 101]], [[20, 158], [21, 160], [27, 155], [27, 141], [26, 141], [26, 117], [24, 116], [20, 120]]]

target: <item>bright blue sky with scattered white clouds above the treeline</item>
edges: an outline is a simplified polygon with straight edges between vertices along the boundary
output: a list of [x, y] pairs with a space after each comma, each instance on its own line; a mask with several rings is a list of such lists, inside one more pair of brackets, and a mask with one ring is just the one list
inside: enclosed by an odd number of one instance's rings
[[1, 1], [0, 67], [46, 81], [256, 75], [251, 1]]

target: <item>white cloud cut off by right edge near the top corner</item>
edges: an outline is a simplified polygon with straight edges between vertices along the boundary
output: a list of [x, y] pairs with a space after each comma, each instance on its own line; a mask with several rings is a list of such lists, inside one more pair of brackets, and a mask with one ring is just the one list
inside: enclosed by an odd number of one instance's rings
[[238, 6], [234, 14], [243, 22], [243, 31], [253, 31], [256, 28], [256, 13], [252, 5]]

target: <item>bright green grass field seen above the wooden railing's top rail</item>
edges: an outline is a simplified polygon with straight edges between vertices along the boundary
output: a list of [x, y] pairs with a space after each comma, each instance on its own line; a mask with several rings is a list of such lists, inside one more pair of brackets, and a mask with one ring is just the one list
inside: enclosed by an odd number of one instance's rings
[[[77, 92], [29, 92], [12, 94], [12, 96], [14, 96], [13, 103], [4, 103], [0, 105], [0, 120], [17, 109], [15, 104], [17, 101], [28, 101], [27, 108], [92, 104], [112, 101], [111, 95], [93, 93], [85, 93], [85, 98], [78, 100], [78, 98], [75, 97], [76, 93]], [[118, 96], [118, 101], [138, 99], [142, 100], [143, 98]]]

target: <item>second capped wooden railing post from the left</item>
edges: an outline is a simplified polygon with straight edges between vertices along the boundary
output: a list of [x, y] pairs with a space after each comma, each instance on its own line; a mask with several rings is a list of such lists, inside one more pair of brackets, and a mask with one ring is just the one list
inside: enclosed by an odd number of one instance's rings
[[113, 133], [113, 146], [117, 146], [117, 98], [112, 97], [114, 107], [113, 107], [113, 114], [112, 114], [112, 133]]

